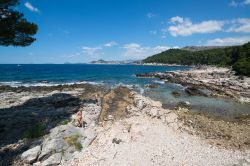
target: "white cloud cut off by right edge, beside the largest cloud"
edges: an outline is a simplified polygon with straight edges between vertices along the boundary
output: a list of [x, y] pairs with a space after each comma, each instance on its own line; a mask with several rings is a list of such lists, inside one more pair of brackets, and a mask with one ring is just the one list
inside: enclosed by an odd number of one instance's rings
[[227, 32], [245, 32], [250, 33], [250, 19], [239, 18], [231, 21], [232, 24]]

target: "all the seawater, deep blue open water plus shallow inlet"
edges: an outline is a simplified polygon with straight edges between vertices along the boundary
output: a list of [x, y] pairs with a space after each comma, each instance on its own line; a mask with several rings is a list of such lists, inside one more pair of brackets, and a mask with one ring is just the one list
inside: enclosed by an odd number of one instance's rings
[[[137, 78], [137, 73], [169, 72], [190, 70], [188, 66], [146, 66], [109, 64], [1, 64], [0, 86], [52, 86], [60, 84], [90, 83], [109, 87], [127, 86], [142, 95], [161, 101], [166, 108], [173, 108], [178, 102], [191, 104], [192, 111], [233, 119], [250, 114], [249, 104], [204, 96], [189, 96], [179, 84], [164, 83], [157, 78]], [[148, 88], [155, 84], [156, 88]], [[175, 97], [173, 91], [182, 95]]]

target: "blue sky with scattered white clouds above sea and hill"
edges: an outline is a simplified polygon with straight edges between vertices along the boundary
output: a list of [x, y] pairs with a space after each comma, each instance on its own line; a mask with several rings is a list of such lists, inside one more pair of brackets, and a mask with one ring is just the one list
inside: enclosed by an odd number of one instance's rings
[[140, 60], [170, 48], [250, 41], [250, 0], [21, 0], [38, 25], [28, 47], [0, 46], [0, 63]]

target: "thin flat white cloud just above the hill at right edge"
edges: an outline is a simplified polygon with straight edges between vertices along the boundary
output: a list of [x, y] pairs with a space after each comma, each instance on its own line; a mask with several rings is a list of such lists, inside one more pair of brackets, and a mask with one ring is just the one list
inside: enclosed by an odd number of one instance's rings
[[241, 45], [249, 41], [250, 41], [250, 36], [216, 38], [216, 39], [208, 40], [206, 42], [206, 45], [208, 46], [232, 46], [232, 45]]

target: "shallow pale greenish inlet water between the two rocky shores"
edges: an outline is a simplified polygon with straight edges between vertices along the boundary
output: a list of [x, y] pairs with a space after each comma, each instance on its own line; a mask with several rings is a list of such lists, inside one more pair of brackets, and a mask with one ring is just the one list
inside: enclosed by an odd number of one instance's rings
[[[204, 96], [189, 96], [184, 91], [185, 87], [177, 84], [159, 84], [158, 88], [147, 89], [145, 94], [155, 100], [161, 101], [165, 107], [173, 108], [180, 101], [188, 101], [195, 112], [205, 112], [223, 119], [232, 119], [242, 114], [250, 113], [249, 104], [241, 104], [230, 99], [212, 98]], [[178, 91], [181, 96], [175, 97], [172, 91]]]

